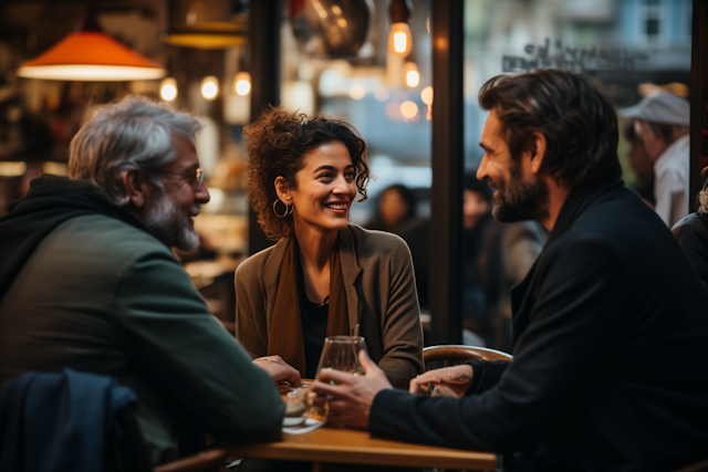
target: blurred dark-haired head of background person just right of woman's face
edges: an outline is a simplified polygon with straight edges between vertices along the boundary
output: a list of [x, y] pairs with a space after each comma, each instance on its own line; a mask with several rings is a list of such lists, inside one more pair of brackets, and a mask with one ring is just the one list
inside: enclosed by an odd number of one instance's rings
[[400, 235], [416, 216], [418, 201], [413, 191], [400, 183], [386, 188], [378, 198], [376, 216], [364, 227]]

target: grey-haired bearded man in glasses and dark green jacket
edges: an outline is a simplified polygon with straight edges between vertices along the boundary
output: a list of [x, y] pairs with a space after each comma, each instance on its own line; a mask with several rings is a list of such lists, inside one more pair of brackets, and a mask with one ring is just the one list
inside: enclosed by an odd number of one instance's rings
[[[280, 436], [277, 361], [253, 364], [169, 248], [191, 251], [209, 201], [197, 118], [140, 97], [96, 109], [72, 139], [71, 178], [43, 176], [0, 219], [0, 385], [28, 370], [112, 376], [138, 397], [155, 464], [205, 431]], [[274, 359], [277, 360], [277, 359]]]

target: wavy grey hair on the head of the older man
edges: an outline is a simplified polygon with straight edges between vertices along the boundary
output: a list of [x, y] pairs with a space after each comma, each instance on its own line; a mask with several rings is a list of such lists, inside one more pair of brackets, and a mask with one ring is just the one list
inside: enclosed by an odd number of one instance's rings
[[[194, 143], [201, 122], [169, 105], [152, 102], [139, 95], [128, 95], [119, 102], [95, 107], [69, 147], [69, 175], [88, 180], [104, 189], [114, 203], [128, 202], [123, 175], [128, 169], [167, 166], [175, 159], [173, 135]], [[150, 172], [150, 183], [163, 188]]]

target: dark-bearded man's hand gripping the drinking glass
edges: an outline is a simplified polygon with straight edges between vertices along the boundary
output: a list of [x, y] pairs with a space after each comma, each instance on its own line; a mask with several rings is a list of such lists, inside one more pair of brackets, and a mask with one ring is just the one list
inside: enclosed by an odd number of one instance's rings
[[358, 361], [365, 375], [355, 376], [340, 370], [322, 369], [312, 386], [312, 390], [317, 395], [332, 397], [327, 422], [366, 428], [374, 398], [379, 391], [393, 388], [386, 374], [364, 350], [358, 353]]

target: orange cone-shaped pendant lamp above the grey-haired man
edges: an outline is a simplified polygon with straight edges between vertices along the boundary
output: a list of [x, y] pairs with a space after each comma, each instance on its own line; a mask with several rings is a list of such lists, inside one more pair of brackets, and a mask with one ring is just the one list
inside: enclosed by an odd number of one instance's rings
[[18, 76], [50, 81], [116, 82], [163, 78], [165, 69], [105, 34], [93, 13], [76, 30], [18, 69]]

